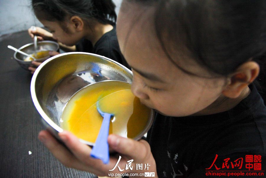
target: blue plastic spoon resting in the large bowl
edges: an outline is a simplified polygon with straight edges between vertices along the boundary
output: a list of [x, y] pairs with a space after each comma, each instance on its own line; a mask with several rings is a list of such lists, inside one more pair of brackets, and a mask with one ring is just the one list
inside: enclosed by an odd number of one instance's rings
[[99, 100], [97, 101], [97, 110], [103, 117], [103, 123], [100, 128], [100, 132], [96, 139], [96, 142], [93, 146], [92, 151], [90, 152], [90, 156], [101, 159], [104, 164], [108, 164], [109, 162], [109, 145], [107, 142], [107, 137], [109, 135], [109, 125], [110, 119], [113, 117], [113, 114], [105, 113], [100, 109]]

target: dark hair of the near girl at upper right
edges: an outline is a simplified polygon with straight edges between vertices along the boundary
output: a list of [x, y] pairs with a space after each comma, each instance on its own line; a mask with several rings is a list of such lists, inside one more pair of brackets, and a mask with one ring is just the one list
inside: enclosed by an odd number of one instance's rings
[[[131, 1], [131, 0], [128, 0]], [[265, 96], [266, 0], [135, 0], [155, 6], [155, 31], [168, 58], [186, 46], [192, 59], [213, 76], [227, 76], [248, 60], [260, 64], [261, 94]], [[182, 56], [181, 56], [182, 57]], [[188, 59], [184, 57], [182, 59]], [[266, 99], [266, 98], [264, 98]]]

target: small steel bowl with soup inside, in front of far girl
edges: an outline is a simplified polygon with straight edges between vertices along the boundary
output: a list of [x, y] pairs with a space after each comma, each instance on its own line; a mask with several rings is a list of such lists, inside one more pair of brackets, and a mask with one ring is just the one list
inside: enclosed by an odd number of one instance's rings
[[[27, 54], [30, 54], [30, 55], [34, 54], [34, 57], [38, 58], [36, 61], [39, 61], [39, 62], [43, 62], [50, 57], [48, 54], [49, 51], [59, 50], [59, 44], [54, 41], [38, 41], [37, 44], [38, 44], [37, 51], [35, 51], [33, 43], [26, 44], [20, 47], [19, 50]], [[18, 52], [14, 53], [14, 58], [23, 69], [28, 70], [29, 66], [32, 66], [31, 64], [32, 58], [30, 59], [29, 57], [23, 54], [20, 54]]]

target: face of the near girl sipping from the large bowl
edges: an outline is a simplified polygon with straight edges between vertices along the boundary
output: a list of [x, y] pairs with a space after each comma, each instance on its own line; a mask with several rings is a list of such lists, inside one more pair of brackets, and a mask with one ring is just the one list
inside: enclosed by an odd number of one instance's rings
[[[126, 10], [124, 6], [126, 3], [122, 4], [117, 20], [117, 36], [121, 51], [132, 67], [133, 94], [164, 115], [206, 113], [206, 107], [221, 96], [224, 78], [203, 78], [180, 70], [168, 59], [155, 35], [150, 19], [153, 9], [143, 9], [141, 13], [136, 4], [130, 4]], [[195, 74], [207, 74], [187, 56], [178, 61], [179, 66]]]

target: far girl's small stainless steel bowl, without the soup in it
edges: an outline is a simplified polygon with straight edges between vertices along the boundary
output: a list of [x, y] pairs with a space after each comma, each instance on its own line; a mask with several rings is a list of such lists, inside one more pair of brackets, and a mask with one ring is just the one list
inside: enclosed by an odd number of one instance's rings
[[[54, 41], [38, 41], [37, 44], [38, 44], [37, 45], [38, 46], [38, 51], [58, 51], [58, 49], [59, 49], [59, 44], [54, 42]], [[33, 53], [35, 53], [34, 43], [26, 44], [26, 45], [20, 47], [19, 50], [23, 51], [23, 52], [25, 52], [27, 54], [33, 54]], [[29, 66], [31, 66], [32, 64], [31, 64], [31, 61], [24, 61], [24, 59], [26, 57], [27, 56], [25, 56], [23, 54], [20, 54], [18, 52], [14, 53], [14, 58], [16, 59], [18, 64], [20, 64], [20, 66], [23, 69], [28, 70]], [[50, 56], [47, 56], [47, 57], [44, 57], [42, 59], [38, 59], [36, 61], [43, 62], [46, 59], [48, 59], [49, 57]]]

